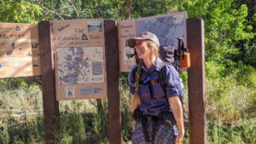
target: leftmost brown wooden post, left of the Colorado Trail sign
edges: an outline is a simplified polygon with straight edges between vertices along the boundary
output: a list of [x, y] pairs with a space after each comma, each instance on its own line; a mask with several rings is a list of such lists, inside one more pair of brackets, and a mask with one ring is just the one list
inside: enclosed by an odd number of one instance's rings
[[38, 24], [38, 32], [43, 88], [44, 137], [45, 143], [55, 143], [55, 135], [51, 131], [51, 127], [56, 124], [54, 118], [59, 115], [59, 103], [55, 96], [55, 66], [50, 21], [41, 21]]

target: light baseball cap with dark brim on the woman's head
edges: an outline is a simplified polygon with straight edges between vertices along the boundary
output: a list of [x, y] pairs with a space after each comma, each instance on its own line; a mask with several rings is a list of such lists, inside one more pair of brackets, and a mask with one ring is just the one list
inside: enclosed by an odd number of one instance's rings
[[136, 41], [141, 40], [141, 39], [142, 40], [147, 40], [147, 39], [151, 40], [154, 43], [156, 43], [158, 46], [160, 46], [158, 37], [156, 37], [154, 33], [152, 33], [152, 32], [142, 32], [142, 33], [138, 34], [137, 37], [131, 37], [128, 40], [129, 47], [134, 48], [135, 45], [136, 45]]

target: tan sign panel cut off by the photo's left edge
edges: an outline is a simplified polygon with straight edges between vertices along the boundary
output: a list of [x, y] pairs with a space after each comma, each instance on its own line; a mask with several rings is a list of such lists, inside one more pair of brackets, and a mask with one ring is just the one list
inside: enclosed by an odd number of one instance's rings
[[0, 78], [40, 75], [38, 25], [0, 23]]

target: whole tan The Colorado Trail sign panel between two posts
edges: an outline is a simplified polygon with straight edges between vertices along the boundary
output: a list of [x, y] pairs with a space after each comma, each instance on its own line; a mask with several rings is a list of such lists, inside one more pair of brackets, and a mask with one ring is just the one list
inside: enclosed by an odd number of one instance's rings
[[52, 23], [57, 100], [107, 97], [103, 20]]

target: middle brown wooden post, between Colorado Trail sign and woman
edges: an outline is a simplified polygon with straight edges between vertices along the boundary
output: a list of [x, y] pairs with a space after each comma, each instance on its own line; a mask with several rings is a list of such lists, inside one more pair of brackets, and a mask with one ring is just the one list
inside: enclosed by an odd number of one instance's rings
[[122, 143], [121, 109], [119, 95], [119, 49], [117, 41], [117, 22], [104, 20], [106, 68], [108, 83], [108, 125], [109, 143]]

